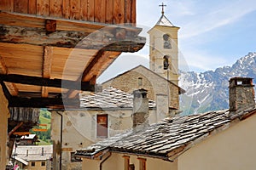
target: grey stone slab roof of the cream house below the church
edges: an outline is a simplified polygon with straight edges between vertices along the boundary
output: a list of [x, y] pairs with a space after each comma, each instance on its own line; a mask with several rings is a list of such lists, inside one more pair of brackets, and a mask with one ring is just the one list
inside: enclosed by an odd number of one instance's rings
[[[102, 92], [90, 95], [81, 95], [81, 108], [132, 108], [133, 95], [117, 88], [105, 88]], [[155, 107], [153, 100], [148, 100], [149, 108]]]

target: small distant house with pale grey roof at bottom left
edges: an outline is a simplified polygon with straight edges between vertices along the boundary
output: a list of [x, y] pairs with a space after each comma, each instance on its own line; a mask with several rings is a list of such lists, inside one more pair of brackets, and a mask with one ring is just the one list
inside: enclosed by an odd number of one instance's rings
[[13, 158], [20, 169], [50, 170], [52, 145], [17, 145]]

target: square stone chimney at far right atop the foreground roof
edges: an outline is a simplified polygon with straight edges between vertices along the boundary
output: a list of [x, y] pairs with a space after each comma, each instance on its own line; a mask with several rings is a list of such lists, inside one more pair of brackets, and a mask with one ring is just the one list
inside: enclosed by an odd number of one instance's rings
[[255, 106], [253, 78], [230, 79], [230, 111]]

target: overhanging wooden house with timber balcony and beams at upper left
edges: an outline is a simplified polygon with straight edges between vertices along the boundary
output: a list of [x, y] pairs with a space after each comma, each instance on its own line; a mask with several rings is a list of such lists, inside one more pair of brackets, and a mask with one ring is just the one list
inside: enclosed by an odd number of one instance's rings
[[[38, 123], [36, 111], [21, 110], [79, 108], [79, 92], [95, 91], [119, 54], [143, 48], [136, 7], [136, 0], [0, 1], [0, 169], [14, 133]], [[20, 110], [19, 121], [8, 121], [9, 108]]]

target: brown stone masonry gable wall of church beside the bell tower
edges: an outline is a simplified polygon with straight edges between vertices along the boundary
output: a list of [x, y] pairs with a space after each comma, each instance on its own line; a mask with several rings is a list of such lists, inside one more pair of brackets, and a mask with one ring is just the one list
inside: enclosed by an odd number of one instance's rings
[[[139, 77], [143, 78], [143, 84], [141, 86], [138, 85]], [[102, 84], [102, 88], [108, 87], [119, 88], [130, 94], [135, 89], [145, 88], [148, 90], [148, 99], [154, 101], [156, 100], [157, 94], [169, 94], [170, 106], [177, 109], [179, 107], [177, 86], [166, 81], [163, 77], [156, 75], [153, 71], [148, 71], [143, 66], [138, 66]]]

